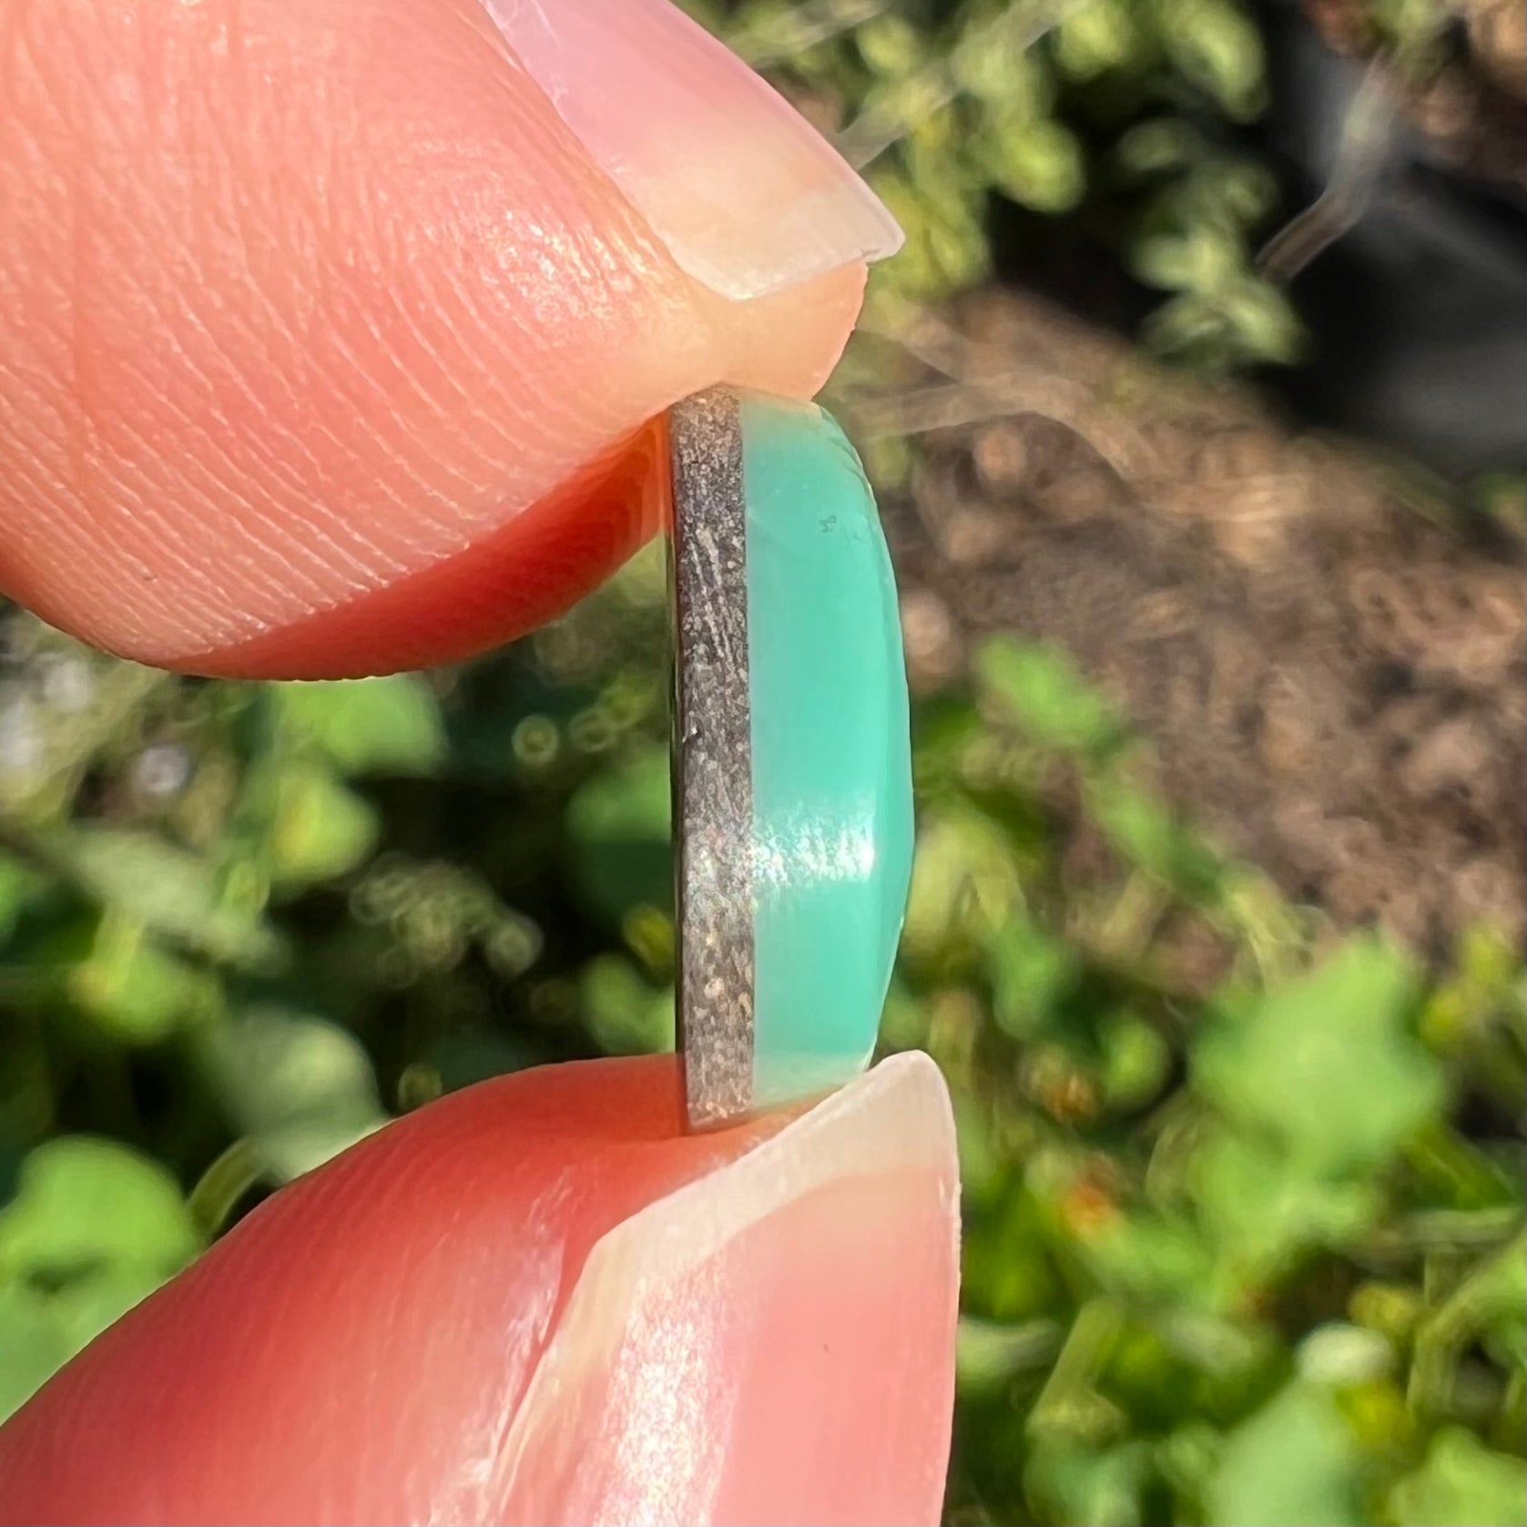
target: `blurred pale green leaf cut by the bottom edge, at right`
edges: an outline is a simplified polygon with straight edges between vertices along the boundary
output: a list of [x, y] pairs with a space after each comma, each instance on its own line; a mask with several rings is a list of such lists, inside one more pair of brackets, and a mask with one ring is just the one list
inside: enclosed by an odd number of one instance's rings
[[1332, 1397], [1290, 1383], [1229, 1434], [1205, 1490], [1209, 1527], [1348, 1527], [1358, 1445]]

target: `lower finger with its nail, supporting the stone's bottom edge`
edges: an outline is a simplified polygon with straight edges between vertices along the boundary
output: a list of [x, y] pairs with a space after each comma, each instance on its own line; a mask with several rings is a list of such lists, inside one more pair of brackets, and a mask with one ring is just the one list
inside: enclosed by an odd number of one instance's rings
[[547, 1067], [298, 1180], [0, 1428], [0, 1522], [936, 1522], [933, 1063], [680, 1107], [672, 1057]]

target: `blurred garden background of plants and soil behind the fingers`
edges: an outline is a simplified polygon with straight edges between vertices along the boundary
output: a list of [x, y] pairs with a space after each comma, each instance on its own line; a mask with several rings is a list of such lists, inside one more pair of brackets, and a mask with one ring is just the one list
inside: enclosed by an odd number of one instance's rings
[[[1519, 1524], [1519, 0], [692, 9], [909, 232], [828, 402], [915, 692], [948, 1521]], [[356, 684], [0, 606], [0, 1414], [386, 1116], [672, 1044], [666, 664], [654, 551]]]

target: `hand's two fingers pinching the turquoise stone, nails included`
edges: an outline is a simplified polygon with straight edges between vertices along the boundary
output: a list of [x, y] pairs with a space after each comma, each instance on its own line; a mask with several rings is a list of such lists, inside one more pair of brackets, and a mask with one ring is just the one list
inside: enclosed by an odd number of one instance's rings
[[[472, 654], [657, 530], [672, 402], [814, 392], [895, 243], [660, 0], [0, 0], [0, 589], [202, 673]], [[954, 1292], [931, 1063], [704, 1136], [672, 1060], [527, 1072], [99, 1338], [0, 1521], [931, 1522]]]

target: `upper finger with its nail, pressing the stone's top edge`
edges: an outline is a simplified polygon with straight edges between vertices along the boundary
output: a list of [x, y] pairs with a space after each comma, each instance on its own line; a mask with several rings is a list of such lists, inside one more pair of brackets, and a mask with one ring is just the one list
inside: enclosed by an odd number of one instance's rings
[[200, 672], [464, 655], [809, 394], [895, 224], [666, 0], [0, 0], [0, 589]]

